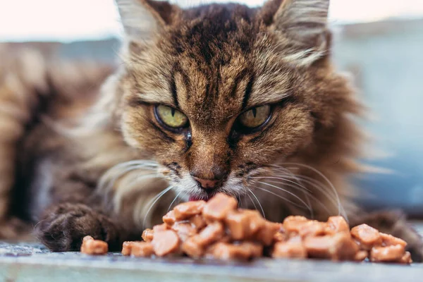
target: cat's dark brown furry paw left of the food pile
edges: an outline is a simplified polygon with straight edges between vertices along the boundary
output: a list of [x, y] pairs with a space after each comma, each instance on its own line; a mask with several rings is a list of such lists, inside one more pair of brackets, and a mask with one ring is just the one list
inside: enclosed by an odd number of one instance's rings
[[80, 250], [85, 235], [112, 244], [117, 238], [115, 224], [85, 204], [58, 204], [47, 209], [35, 232], [53, 252]]

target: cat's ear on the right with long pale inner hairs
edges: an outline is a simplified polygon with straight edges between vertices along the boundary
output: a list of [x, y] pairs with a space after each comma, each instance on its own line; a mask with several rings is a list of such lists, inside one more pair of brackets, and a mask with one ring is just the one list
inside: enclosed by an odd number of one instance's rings
[[[300, 47], [295, 56], [309, 64], [324, 56], [331, 34], [327, 27], [329, 0], [275, 0], [271, 27]], [[302, 51], [302, 54], [301, 54]]]

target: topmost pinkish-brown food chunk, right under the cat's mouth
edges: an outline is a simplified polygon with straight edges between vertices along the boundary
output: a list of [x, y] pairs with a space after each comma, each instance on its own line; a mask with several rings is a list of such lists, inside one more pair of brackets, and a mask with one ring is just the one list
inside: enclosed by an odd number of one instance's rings
[[216, 194], [204, 205], [203, 216], [210, 221], [223, 220], [226, 215], [238, 207], [238, 202], [233, 197], [223, 193]]

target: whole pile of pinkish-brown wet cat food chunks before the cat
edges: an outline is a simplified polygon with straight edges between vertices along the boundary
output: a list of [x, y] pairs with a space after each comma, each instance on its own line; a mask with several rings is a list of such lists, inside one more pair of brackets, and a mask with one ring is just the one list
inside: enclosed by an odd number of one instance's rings
[[[318, 258], [410, 264], [405, 241], [362, 224], [350, 230], [342, 216], [326, 222], [289, 216], [283, 223], [266, 221], [259, 212], [238, 209], [238, 202], [217, 194], [209, 202], [176, 206], [163, 222], [146, 229], [140, 242], [123, 243], [133, 257], [188, 255], [212, 259]], [[88, 236], [87, 236], [88, 237]], [[104, 242], [85, 238], [81, 252], [107, 252]]]

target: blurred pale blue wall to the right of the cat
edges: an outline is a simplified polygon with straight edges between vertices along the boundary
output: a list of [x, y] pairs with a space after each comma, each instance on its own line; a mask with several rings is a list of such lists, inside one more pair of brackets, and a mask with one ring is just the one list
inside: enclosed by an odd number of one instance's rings
[[334, 55], [372, 110], [371, 152], [388, 155], [368, 162], [393, 171], [359, 180], [362, 202], [423, 214], [423, 20], [346, 25]]

